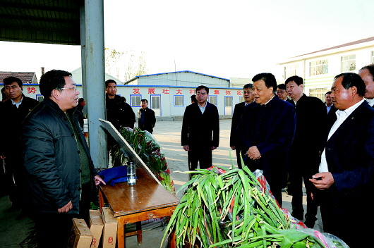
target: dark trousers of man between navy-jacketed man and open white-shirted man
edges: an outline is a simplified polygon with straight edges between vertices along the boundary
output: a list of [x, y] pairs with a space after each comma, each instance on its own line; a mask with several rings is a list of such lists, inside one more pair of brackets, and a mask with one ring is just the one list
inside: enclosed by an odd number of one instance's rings
[[306, 218], [309, 221], [316, 221], [318, 204], [310, 196], [310, 192], [315, 189], [313, 184], [309, 182], [310, 175], [296, 170], [289, 171], [289, 181], [292, 189], [292, 216], [300, 221], [304, 218], [303, 209], [303, 182], [306, 187]]

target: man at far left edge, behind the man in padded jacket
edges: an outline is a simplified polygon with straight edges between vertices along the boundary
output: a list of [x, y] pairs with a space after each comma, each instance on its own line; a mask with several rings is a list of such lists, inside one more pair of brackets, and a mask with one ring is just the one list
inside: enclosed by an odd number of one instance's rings
[[23, 83], [18, 77], [4, 78], [4, 88], [8, 100], [1, 106], [1, 135], [4, 142], [0, 144], [0, 158], [6, 164], [6, 182], [12, 209], [19, 208], [23, 199], [23, 178], [20, 173], [23, 161], [21, 159], [21, 142], [18, 132], [25, 117], [34, 109], [39, 101], [25, 97], [22, 93]]

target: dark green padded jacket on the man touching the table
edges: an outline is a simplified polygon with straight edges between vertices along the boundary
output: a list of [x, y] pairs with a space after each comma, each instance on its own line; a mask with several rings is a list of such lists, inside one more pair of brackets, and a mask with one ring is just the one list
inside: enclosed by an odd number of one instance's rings
[[[78, 123], [76, 109], [70, 109], [73, 125], [79, 132], [79, 139], [88, 154], [92, 184], [95, 172], [90, 151]], [[76, 137], [68, 118], [59, 106], [50, 99], [44, 99], [23, 123], [23, 158], [28, 178], [29, 208], [44, 213], [56, 213], [69, 201], [79, 213], [80, 201], [80, 159]]]

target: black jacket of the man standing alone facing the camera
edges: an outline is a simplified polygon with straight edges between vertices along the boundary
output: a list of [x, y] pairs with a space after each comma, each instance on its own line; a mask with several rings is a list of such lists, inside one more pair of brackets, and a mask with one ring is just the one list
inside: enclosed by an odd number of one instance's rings
[[186, 106], [183, 115], [181, 144], [198, 147], [218, 147], [219, 116], [215, 105], [207, 102], [204, 114], [198, 104]]

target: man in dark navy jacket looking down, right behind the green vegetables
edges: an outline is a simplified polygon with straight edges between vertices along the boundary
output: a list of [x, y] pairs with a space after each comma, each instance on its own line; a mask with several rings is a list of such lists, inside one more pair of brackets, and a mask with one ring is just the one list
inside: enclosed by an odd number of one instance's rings
[[257, 74], [252, 81], [255, 102], [244, 109], [237, 132], [243, 147], [241, 155], [251, 171], [263, 171], [272, 194], [282, 206], [295, 109], [277, 97], [277, 80], [271, 73]]

